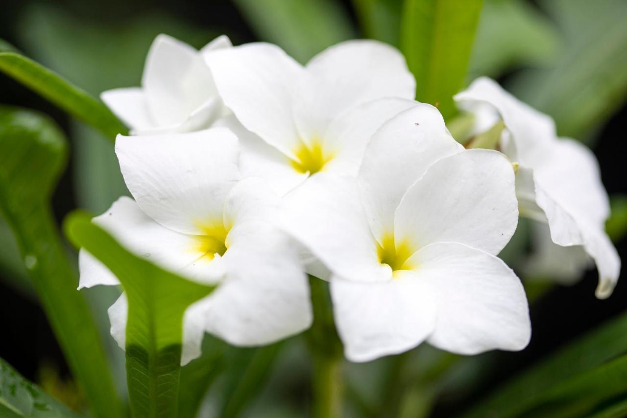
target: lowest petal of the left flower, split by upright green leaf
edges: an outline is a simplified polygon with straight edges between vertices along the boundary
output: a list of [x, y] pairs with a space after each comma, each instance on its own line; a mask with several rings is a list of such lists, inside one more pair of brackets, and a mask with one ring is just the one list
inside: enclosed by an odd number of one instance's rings
[[[198, 358], [201, 355], [201, 345], [204, 336], [204, 311], [207, 299], [198, 301], [186, 309], [183, 317], [183, 341], [181, 366]], [[111, 324], [111, 336], [122, 350], [126, 346], [126, 323], [129, 316], [129, 301], [125, 293], [107, 310]]]

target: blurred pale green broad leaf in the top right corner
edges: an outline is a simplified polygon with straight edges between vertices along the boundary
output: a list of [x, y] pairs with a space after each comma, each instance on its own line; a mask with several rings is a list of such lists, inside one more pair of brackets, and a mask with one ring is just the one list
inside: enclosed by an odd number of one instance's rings
[[542, 68], [520, 73], [510, 90], [554, 117], [562, 136], [584, 136], [627, 97], [627, 2], [550, 0], [564, 48]]

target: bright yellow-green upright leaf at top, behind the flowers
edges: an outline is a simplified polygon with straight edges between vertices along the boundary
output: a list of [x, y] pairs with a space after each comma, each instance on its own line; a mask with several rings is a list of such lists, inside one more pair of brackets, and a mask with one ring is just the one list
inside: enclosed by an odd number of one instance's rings
[[483, 0], [405, 0], [401, 50], [416, 77], [416, 99], [447, 119], [470, 61]]

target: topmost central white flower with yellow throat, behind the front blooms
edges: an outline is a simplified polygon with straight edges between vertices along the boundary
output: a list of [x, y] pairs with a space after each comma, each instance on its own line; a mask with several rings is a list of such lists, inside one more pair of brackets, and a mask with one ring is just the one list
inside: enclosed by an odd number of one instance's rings
[[[238, 132], [248, 155], [242, 169], [280, 194], [321, 171], [357, 173], [372, 133], [414, 104], [403, 55], [377, 41], [339, 43], [305, 67], [267, 43], [216, 51], [206, 62], [234, 114], [221, 124]], [[387, 97], [397, 99], [373, 102]]]

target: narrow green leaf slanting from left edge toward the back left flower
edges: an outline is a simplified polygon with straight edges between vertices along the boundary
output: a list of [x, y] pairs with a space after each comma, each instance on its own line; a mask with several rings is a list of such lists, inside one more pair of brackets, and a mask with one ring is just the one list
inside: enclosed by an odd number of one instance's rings
[[6, 43], [0, 44], [0, 72], [92, 125], [112, 141], [117, 134], [128, 132], [107, 106], [55, 72], [9, 48]]

